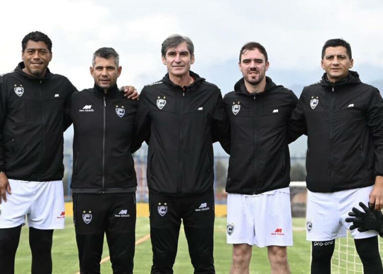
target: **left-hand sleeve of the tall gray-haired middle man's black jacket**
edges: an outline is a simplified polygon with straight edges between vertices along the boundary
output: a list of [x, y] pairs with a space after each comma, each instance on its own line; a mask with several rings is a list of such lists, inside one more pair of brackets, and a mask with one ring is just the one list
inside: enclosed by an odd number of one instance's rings
[[138, 108], [134, 121], [134, 135], [131, 145], [131, 153], [137, 151], [143, 141], [149, 142], [150, 138], [150, 118], [149, 118], [149, 104], [146, 98], [145, 87], [142, 89], [138, 101]]

